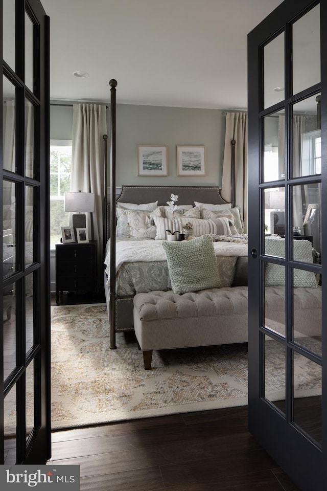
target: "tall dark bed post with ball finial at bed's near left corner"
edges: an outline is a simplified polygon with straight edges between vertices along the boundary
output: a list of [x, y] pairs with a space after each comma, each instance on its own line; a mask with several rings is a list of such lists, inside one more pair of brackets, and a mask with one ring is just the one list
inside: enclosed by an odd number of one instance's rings
[[110, 349], [116, 348], [116, 86], [110, 85]]

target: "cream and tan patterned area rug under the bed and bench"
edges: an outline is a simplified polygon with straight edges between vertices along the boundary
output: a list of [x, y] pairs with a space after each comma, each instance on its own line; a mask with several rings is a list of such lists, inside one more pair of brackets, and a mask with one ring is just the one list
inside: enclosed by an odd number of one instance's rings
[[[247, 344], [154, 351], [151, 370], [133, 332], [109, 344], [105, 304], [52, 307], [52, 429], [247, 404]], [[277, 400], [285, 362], [269, 344], [266, 394]], [[302, 396], [320, 393], [321, 371], [302, 357], [297, 372]]]

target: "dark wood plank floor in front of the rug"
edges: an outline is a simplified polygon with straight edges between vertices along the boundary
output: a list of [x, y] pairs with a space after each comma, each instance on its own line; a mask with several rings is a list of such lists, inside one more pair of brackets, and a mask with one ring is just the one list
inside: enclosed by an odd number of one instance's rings
[[53, 432], [81, 491], [299, 491], [247, 431], [247, 407]]

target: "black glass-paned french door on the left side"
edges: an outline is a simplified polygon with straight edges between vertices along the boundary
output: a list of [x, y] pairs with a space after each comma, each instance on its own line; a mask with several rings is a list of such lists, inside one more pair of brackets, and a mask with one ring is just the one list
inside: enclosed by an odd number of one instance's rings
[[0, 462], [51, 455], [49, 17], [39, 0], [1, 0]]

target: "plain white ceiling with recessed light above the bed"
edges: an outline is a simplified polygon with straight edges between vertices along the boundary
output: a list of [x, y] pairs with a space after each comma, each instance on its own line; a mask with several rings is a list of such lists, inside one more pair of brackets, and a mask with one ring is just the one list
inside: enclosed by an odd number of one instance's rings
[[[41, 0], [52, 100], [243, 109], [247, 34], [282, 0]], [[73, 76], [89, 73], [87, 78]]]

